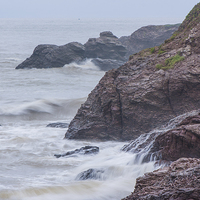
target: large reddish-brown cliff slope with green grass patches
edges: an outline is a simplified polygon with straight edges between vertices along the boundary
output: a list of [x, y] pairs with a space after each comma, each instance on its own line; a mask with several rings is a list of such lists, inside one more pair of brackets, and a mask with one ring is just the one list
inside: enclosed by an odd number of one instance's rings
[[66, 138], [130, 140], [200, 107], [200, 4], [159, 47], [106, 73]]

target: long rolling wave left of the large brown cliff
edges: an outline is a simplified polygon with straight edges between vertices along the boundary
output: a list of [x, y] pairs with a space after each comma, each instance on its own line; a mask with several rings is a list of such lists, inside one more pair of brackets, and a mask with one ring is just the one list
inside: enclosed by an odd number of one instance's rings
[[76, 114], [86, 98], [78, 99], [40, 99], [18, 105], [0, 107], [0, 117], [22, 117], [27, 120], [37, 119], [63, 119]]

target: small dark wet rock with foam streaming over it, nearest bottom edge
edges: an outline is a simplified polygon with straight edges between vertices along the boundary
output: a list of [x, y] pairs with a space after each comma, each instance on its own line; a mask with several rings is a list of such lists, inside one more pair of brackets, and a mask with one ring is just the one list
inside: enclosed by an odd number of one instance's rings
[[103, 174], [104, 174], [104, 170], [88, 169], [78, 174], [76, 177], [76, 180], [88, 180], [88, 179], [104, 180], [105, 177], [103, 177]]

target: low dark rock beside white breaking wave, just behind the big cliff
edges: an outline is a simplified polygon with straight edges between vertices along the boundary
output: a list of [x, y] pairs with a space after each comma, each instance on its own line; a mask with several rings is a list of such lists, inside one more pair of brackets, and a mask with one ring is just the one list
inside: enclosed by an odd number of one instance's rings
[[93, 62], [103, 71], [116, 69], [124, 64], [124, 62], [121, 60], [111, 60], [111, 59], [101, 59], [101, 58], [94, 58], [91, 60], [91, 62]]

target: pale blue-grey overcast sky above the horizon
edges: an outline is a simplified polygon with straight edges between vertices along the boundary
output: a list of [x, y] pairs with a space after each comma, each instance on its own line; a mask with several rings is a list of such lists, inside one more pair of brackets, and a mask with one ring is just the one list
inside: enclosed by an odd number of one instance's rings
[[200, 0], [0, 0], [0, 18], [181, 18]]

